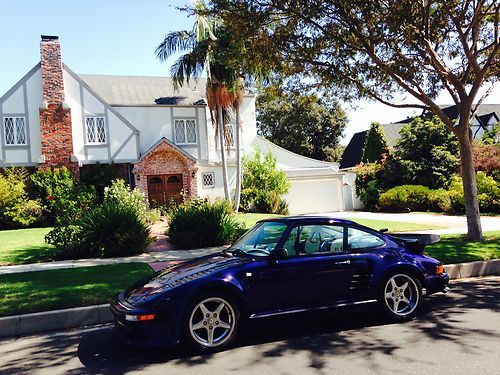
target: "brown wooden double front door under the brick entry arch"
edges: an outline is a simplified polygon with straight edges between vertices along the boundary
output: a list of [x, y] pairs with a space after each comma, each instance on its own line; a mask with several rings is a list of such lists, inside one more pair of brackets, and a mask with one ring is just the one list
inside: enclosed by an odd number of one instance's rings
[[182, 200], [182, 174], [148, 176], [148, 197], [151, 205], [165, 205], [173, 199]]

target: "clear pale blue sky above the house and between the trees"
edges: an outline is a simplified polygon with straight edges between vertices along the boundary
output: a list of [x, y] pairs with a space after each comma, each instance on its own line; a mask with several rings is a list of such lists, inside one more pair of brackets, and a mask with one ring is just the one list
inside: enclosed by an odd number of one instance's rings
[[[0, 0], [0, 96], [40, 61], [40, 35], [58, 35], [63, 61], [78, 74], [168, 76], [156, 46], [170, 31], [191, 29], [194, 19], [178, 10], [186, 0]], [[499, 85], [500, 86], [500, 85]], [[440, 95], [439, 104], [450, 104]], [[401, 102], [410, 102], [401, 98]], [[496, 87], [485, 103], [500, 102]], [[344, 105], [349, 125], [342, 144], [372, 121], [390, 123], [420, 113], [359, 101]]]

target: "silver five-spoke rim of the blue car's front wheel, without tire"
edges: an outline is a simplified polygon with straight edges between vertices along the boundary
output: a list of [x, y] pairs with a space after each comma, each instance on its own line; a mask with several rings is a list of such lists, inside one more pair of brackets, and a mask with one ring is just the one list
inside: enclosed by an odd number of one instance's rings
[[236, 325], [233, 307], [220, 297], [198, 303], [189, 317], [189, 333], [200, 345], [214, 348], [231, 337]]

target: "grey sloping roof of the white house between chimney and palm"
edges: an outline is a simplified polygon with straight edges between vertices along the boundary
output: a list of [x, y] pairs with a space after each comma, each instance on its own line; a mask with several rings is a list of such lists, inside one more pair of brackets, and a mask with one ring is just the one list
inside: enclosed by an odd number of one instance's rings
[[172, 77], [78, 76], [113, 106], [204, 105], [206, 78], [192, 79], [175, 90]]

